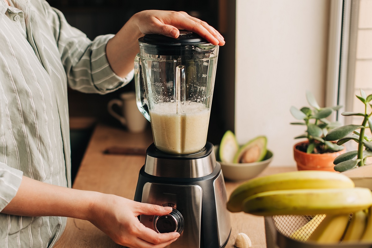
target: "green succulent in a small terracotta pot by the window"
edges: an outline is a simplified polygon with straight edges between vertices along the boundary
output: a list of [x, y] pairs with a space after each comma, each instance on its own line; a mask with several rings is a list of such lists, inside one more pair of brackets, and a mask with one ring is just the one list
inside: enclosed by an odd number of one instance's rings
[[334, 159], [345, 152], [344, 146], [340, 146], [324, 137], [328, 131], [339, 127], [338, 122], [327, 120], [334, 111], [341, 106], [321, 108], [314, 95], [306, 92], [306, 99], [310, 107], [298, 109], [291, 107], [291, 114], [301, 122], [293, 122], [292, 125], [305, 125], [305, 134], [295, 137], [307, 138], [306, 141], [299, 142], [294, 146], [294, 159], [298, 170], [329, 170], [334, 171]]

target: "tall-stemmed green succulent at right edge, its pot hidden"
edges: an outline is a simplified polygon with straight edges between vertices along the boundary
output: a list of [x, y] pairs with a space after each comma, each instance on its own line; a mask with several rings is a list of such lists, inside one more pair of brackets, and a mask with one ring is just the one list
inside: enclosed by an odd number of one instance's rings
[[[369, 128], [372, 130], [372, 94], [366, 95], [366, 93], [360, 89], [360, 96], [356, 96], [364, 104], [364, 111], [358, 112], [343, 112], [341, 115], [344, 116], [362, 116], [363, 121], [361, 125], [344, 125], [342, 127], [331, 130], [326, 136], [327, 141], [337, 141], [338, 145], [344, 144], [349, 140], [354, 140], [358, 143], [358, 149], [356, 151], [348, 151], [334, 160], [334, 169], [339, 172], [354, 169], [356, 167], [364, 166], [367, 157], [372, 156], [372, 138], [369, 138], [365, 134], [365, 130]], [[369, 111], [368, 111], [369, 110]], [[359, 130], [359, 131], [357, 131]]]

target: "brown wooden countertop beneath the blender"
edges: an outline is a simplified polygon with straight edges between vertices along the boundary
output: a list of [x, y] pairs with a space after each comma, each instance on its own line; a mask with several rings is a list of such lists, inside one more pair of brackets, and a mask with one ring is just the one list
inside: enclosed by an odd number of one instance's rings
[[[115, 194], [128, 199], [134, 198], [138, 172], [144, 164], [145, 156], [107, 154], [109, 148], [137, 147], [145, 150], [153, 142], [151, 130], [141, 134], [131, 134], [127, 131], [103, 124], [94, 129], [87, 147], [73, 188], [93, 190], [102, 193]], [[295, 167], [268, 167], [260, 174], [274, 174], [295, 170]], [[230, 195], [241, 182], [226, 181], [227, 194]], [[266, 247], [264, 219], [260, 216], [246, 213], [230, 213], [231, 236], [226, 248], [233, 248], [235, 237], [244, 232], [252, 241], [252, 248]], [[68, 218], [67, 226], [56, 248], [118, 248], [108, 236], [88, 221]]]

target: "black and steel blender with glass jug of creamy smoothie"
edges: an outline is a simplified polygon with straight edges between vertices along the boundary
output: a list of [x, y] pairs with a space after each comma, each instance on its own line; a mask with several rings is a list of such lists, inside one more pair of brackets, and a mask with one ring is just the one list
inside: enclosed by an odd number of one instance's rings
[[151, 123], [134, 200], [170, 206], [139, 216], [157, 232], [179, 232], [170, 248], [225, 247], [231, 234], [221, 165], [206, 141], [219, 47], [180, 30], [177, 39], [145, 35], [135, 59], [137, 106]]

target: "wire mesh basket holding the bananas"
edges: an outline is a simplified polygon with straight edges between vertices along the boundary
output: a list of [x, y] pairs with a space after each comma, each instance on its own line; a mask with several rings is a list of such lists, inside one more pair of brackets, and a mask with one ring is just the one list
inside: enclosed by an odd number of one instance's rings
[[[265, 217], [265, 232], [267, 248], [372, 248], [372, 244], [332, 244], [319, 245], [307, 240], [311, 233], [301, 230], [314, 230], [325, 215], [276, 215]], [[299, 230], [299, 231], [298, 231]]]

